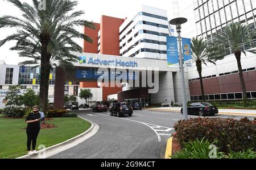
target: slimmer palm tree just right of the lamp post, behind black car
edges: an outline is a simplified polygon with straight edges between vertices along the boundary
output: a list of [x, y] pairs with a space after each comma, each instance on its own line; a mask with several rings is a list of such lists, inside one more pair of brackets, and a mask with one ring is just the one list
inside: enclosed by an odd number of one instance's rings
[[207, 49], [208, 44], [204, 41], [203, 38], [193, 38], [191, 42], [191, 51], [192, 51], [192, 60], [196, 63], [197, 72], [199, 73], [200, 78], [200, 86], [201, 86], [201, 95], [202, 99], [205, 102], [204, 95], [204, 85], [202, 78], [202, 65], [207, 65], [207, 62], [214, 63], [212, 59], [210, 59]]

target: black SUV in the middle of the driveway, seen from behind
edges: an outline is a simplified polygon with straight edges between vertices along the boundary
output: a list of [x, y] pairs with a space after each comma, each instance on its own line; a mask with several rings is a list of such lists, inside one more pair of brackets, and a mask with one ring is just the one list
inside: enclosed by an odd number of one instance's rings
[[115, 103], [110, 109], [110, 115], [117, 115], [117, 117], [129, 115], [131, 117], [133, 115], [133, 107], [131, 107], [130, 103]]

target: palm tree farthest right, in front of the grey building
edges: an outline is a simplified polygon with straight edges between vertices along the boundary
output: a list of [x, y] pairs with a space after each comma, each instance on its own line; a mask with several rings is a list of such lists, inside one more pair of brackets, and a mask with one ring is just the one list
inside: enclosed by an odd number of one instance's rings
[[[245, 45], [250, 45], [255, 37], [256, 32], [255, 30], [250, 30], [250, 26], [243, 26], [240, 22], [230, 23], [223, 28], [221, 35], [217, 35], [217, 41], [212, 46], [215, 60], [222, 60], [229, 53], [236, 56], [244, 106], [247, 105], [247, 94], [243, 79], [241, 54], [243, 53], [246, 56], [246, 52], [256, 53], [255, 49], [245, 49]], [[226, 49], [228, 49], [229, 53], [226, 52]]]

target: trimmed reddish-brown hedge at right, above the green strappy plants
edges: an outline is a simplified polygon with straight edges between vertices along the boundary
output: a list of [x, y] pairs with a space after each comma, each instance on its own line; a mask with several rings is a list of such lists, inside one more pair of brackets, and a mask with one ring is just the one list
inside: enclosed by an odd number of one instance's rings
[[184, 142], [208, 139], [210, 143], [218, 140], [220, 151], [238, 152], [250, 148], [256, 151], [256, 121], [224, 118], [196, 118], [182, 120], [174, 126], [176, 138], [181, 147]]

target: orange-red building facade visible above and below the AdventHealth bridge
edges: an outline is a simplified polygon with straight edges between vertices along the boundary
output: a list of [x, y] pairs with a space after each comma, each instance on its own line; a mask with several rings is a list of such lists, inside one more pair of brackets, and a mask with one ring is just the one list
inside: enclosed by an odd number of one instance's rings
[[[84, 42], [84, 52], [119, 56], [119, 27], [124, 21], [125, 19], [102, 15], [101, 23], [94, 23], [95, 30], [84, 28], [84, 34], [93, 40], [93, 43]], [[99, 32], [100, 36], [98, 35]], [[100, 86], [97, 82], [80, 82], [80, 88], [98, 87]], [[122, 92], [122, 88], [102, 87], [102, 99], [107, 100], [109, 95], [118, 92]]]

